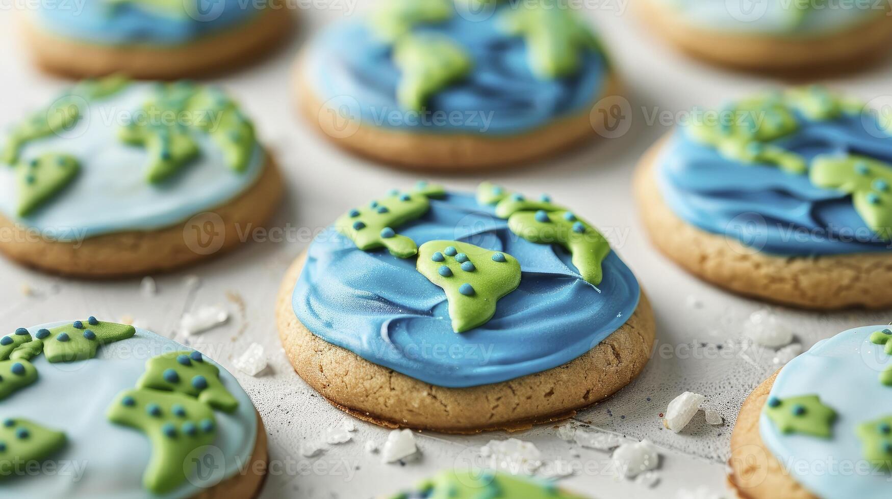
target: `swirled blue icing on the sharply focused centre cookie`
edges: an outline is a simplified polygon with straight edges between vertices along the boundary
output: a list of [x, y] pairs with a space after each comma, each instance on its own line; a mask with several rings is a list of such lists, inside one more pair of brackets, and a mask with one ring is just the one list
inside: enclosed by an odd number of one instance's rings
[[517, 237], [472, 195], [431, 200], [399, 232], [419, 246], [457, 240], [505, 251], [522, 270], [492, 319], [458, 334], [445, 294], [417, 272], [415, 258], [361, 251], [334, 229], [310, 245], [293, 292], [297, 318], [329, 343], [417, 380], [460, 388], [545, 371], [588, 352], [638, 307], [639, 284], [615, 253], [596, 289], [564, 249]]

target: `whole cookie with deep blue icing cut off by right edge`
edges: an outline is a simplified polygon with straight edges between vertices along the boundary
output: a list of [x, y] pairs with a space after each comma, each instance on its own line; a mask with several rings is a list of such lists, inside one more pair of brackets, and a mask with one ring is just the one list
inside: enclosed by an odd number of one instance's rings
[[706, 281], [799, 307], [892, 306], [892, 142], [821, 86], [698, 111], [635, 180], [666, 256]]

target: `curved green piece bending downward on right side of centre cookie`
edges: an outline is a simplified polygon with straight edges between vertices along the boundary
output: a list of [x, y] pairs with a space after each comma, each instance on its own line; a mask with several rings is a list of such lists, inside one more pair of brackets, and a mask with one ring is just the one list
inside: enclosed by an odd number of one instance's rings
[[547, 213], [548, 222], [540, 222], [535, 212], [520, 211], [508, 218], [508, 228], [527, 241], [562, 246], [572, 255], [582, 279], [597, 286], [603, 278], [601, 262], [610, 254], [610, 244], [597, 229], [569, 213], [552, 211]]

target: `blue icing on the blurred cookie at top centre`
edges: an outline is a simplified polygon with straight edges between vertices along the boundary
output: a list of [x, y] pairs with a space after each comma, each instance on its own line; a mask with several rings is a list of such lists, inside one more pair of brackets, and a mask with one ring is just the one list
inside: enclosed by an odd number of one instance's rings
[[335, 99], [335, 111], [345, 117], [423, 133], [517, 134], [588, 112], [607, 86], [610, 70], [603, 54], [584, 53], [574, 76], [537, 78], [524, 38], [508, 36], [499, 26], [504, 8], [483, 20], [456, 13], [446, 22], [414, 30], [454, 39], [474, 62], [467, 78], [434, 94], [428, 113], [420, 117], [397, 103], [401, 72], [393, 64], [392, 46], [376, 37], [367, 20], [335, 23], [312, 40], [306, 78], [316, 97]]

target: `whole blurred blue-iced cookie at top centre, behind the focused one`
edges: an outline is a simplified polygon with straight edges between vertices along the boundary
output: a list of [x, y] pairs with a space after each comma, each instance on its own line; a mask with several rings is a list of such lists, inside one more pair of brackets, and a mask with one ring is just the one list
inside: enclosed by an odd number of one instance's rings
[[586, 20], [538, 0], [382, 0], [312, 40], [298, 72], [311, 123], [351, 151], [413, 168], [558, 151], [598, 129], [618, 90]]

